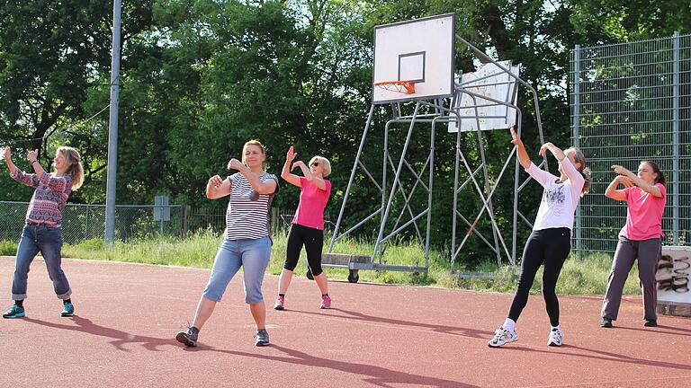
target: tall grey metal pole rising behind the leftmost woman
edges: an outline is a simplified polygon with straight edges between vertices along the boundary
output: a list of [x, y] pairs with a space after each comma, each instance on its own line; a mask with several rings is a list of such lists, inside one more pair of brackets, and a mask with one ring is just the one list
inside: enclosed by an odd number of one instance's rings
[[108, 126], [108, 169], [105, 194], [105, 243], [115, 240], [115, 176], [118, 172], [118, 99], [120, 96], [121, 0], [112, 2], [111, 110]]

